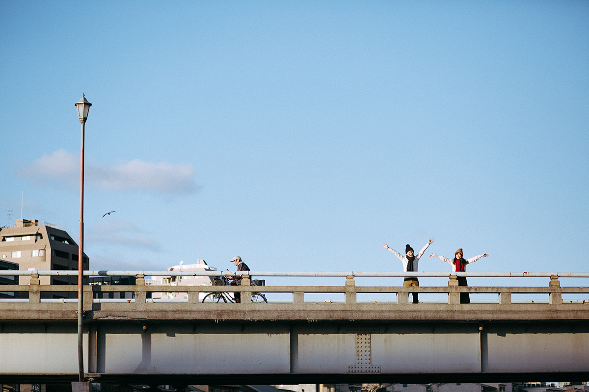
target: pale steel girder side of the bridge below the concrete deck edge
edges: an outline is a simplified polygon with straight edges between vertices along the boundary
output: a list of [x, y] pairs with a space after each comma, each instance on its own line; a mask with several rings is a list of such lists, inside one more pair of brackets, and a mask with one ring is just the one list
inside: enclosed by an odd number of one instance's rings
[[[517, 382], [589, 378], [579, 321], [123, 321], [85, 324], [101, 383]], [[0, 324], [5, 382], [77, 381], [77, 325]]]

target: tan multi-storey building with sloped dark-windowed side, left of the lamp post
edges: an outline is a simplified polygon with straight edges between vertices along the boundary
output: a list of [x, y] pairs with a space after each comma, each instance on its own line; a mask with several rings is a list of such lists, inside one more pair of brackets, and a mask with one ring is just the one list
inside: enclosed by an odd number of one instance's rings
[[[55, 225], [39, 223], [36, 219], [17, 219], [14, 227], [0, 228], [0, 260], [18, 264], [19, 270], [78, 270], [78, 244]], [[83, 269], [88, 270], [89, 265], [84, 254]], [[41, 284], [78, 284], [77, 276], [39, 276], [39, 279]], [[30, 280], [30, 276], [21, 276], [18, 283], [29, 284]], [[52, 297], [63, 296], [52, 294]]]

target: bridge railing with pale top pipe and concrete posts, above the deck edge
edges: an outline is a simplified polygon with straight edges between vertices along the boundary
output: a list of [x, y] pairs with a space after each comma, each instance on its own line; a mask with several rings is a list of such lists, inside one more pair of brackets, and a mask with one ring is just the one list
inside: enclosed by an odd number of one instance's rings
[[[75, 285], [49, 285], [41, 284], [40, 277], [42, 276], [77, 276], [77, 271], [53, 271], [53, 270], [0, 270], [0, 277], [2, 276], [28, 276], [30, 277], [29, 284], [2, 284], [0, 285], [0, 294], [4, 298], [0, 298], [0, 306], [2, 303], [77, 303], [77, 286]], [[581, 294], [587, 296], [589, 294], [589, 287], [561, 287], [561, 278], [589, 278], [589, 273], [562, 273], [562, 272], [289, 272], [289, 271], [84, 271], [84, 276], [132, 276], [135, 277], [135, 284], [131, 285], [97, 285], [84, 287], [84, 302], [86, 304], [94, 303], [128, 303], [134, 306], [143, 306], [146, 303], [187, 303], [198, 304], [204, 294], [210, 292], [240, 292], [242, 294], [243, 306], [249, 306], [250, 293], [262, 292], [270, 297], [269, 302], [287, 302], [293, 304], [310, 304], [310, 303], [342, 303], [348, 306], [355, 306], [362, 303], [390, 303], [392, 305], [407, 304], [409, 301], [409, 294], [436, 294], [444, 297], [444, 299], [430, 301], [430, 303], [441, 304], [459, 304], [461, 293], [471, 294], [487, 294], [494, 297], [494, 299], [487, 300], [488, 303], [498, 304], [513, 304], [518, 303], [512, 296], [519, 296], [520, 294], [536, 294], [544, 297], [544, 299], [536, 300], [535, 303], [548, 304], [563, 304], [563, 303], [587, 303], [589, 300], [580, 299], [574, 301], [563, 301], [562, 294]], [[177, 285], [163, 285], [163, 284], [145, 284], [145, 277], [153, 276], [176, 276], [176, 277], [196, 277], [196, 276], [241, 276], [243, 278], [241, 286], [190, 286], [188, 284]], [[344, 277], [345, 284], [343, 286], [251, 286], [250, 277]], [[548, 286], [540, 287], [515, 287], [515, 286], [458, 286], [457, 277], [487, 277], [487, 278], [538, 278], [548, 277], [550, 282]], [[403, 287], [403, 286], [356, 286], [357, 277], [446, 277], [448, 278], [448, 286], [420, 286], [420, 287]], [[12, 295], [10, 295], [12, 293]], [[53, 294], [68, 293], [74, 298], [58, 299], [50, 298]], [[104, 296], [111, 296], [111, 293], [119, 293], [118, 299], [100, 298]], [[121, 297], [123, 293], [123, 297]], [[157, 293], [171, 293], [168, 299], [153, 298]], [[316, 300], [312, 299], [315, 293], [322, 293], [329, 296], [341, 296], [341, 299], [332, 300]], [[286, 299], [276, 298], [272, 299], [273, 295], [286, 294]], [[309, 294], [309, 295], [307, 295]], [[360, 296], [367, 294], [383, 294], [384, 296], [393, 296], [389, 300], [373, 300], [362, 299]], [[87, 296], [87, 297], [86, 297]], [[170, 295], [168, 295], [170, 296]], [[151, 298], [150, 298], [151, 297]], [[534, 303], [534, 300], [527, 300], [528, 303]], [[203, 304], [208, 306], [209, 304]], [[216, 306], [223, 306], [224, 304], [214, 304]], [[230, 304], [227, 304], [230, 305]], [[257, 304], [256, 304], [257, 306]]]

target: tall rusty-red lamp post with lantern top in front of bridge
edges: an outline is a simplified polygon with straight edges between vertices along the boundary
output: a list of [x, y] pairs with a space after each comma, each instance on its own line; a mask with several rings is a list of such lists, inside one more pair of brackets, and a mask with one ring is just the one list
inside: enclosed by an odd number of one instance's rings
[[84, 94], [75, 103], [78, 110], [78, 119], [82, 125], [80, 140], [80, 238], [78, 240], [78, 372], [80, 383], [84, 381], [84, 349], [82, 347], [82, 323], [84, 322], [84, 124], [88, 118], [88, 111], [92, 103], [88, 102]]

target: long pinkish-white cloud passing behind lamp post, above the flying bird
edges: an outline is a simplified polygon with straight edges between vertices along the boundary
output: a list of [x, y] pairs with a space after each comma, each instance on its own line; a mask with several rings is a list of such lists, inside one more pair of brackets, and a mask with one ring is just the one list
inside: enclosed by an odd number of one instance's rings
[[[80, 186], [80, 156], [58, 150], [44, 155], [16, 174], [35, 183], [59, 184], [75, 189]], [[158, 193], [193, 193], [194, 166], [168, 162], [149, 163], [141, 159], [114, 166], [91, 165], [86, 162], [84, 181], [98, 189], [147, 190]]]

